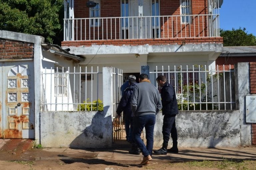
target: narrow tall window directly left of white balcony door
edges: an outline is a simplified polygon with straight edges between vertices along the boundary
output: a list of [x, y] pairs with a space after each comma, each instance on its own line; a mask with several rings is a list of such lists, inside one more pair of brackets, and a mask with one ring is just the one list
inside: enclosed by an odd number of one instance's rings
[[122, 0], [121, 3], [121, 16], [124, 17], [121, 19], [122, 24], [122, 39], [128, 39], [128, 18], [129, 17], [129, 4], [128, 0]]

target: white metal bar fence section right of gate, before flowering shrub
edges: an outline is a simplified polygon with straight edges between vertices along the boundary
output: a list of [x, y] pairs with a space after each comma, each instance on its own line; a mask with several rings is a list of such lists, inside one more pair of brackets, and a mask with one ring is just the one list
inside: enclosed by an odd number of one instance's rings
[[[174, 66], [150, 72], [150, 77], [164, 75], [176, 90], [179, 110], [233, 110], [235, 109], [234, 70], [207, 70], [206, 65]], [[156, 87], [158, 87], [156, 82]], [[161, 90], [160, 87], [159, 91]]]

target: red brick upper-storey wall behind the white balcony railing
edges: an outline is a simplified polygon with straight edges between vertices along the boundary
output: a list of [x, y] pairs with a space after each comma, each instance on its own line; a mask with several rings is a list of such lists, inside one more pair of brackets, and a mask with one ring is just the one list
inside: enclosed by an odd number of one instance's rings
[[[192, 0], [192, 14], [207, 14], [208, 0]], [[89, 8], [86, 7], [84, 0], [76, 0], [74, 4], [75, 18], [89, 18]], [[120, 17], [121, 16], [121, 1], [120, 0], [101, 0], [100, 2], [100, 17]], [[171, 16], [180, 15], [180, 0], [161, 0], [160, 15]], [[106, 40], [106, 39], [123, 39], [120, 37], [120, 22], [119, 19], [110, 19], [100, 21], [99, 27], [90, 27], [90, 20], [76, 20], [75, 38], [76, 40]], [[160, 18], [160, 33], [162, 38], [179, 38], [179, 37], [208, 37], [207, 16], [192, 17], [191, 24], [181, 24], [180, 17], [164, 17]], [[199, 25], [198, 25], [199, 23]], [[112, 29], [110, 28], [112, 24]], [[108, 27], [107, 27], [108, 26]], [[89, 29], [91, 29], [89, 31]], [[112, 37], [110, 32], [112, 30]], [[182, 30], [182, 31], [181, 31]], [[90, 33], [89, 33], [90, 32]], [[109, 35], [107, 36], [107, 32]], [[152, 30], [153, 32], [153, 30]]]

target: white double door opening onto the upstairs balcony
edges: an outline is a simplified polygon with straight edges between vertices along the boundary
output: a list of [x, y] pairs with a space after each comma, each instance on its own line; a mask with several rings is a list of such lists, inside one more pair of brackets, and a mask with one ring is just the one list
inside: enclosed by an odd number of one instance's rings
[[148, 39], [150, 34], [151, 0], [130, 0], [129, 38]]

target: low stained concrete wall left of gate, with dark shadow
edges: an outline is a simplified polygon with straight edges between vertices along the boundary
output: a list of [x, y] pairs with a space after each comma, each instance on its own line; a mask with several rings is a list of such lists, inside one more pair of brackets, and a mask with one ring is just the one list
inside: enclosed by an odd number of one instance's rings
[[103, 148], [112, 145], [112, 119], [105, 117], [104, 112], [41, 112], [40, 118], [43, 147]]

